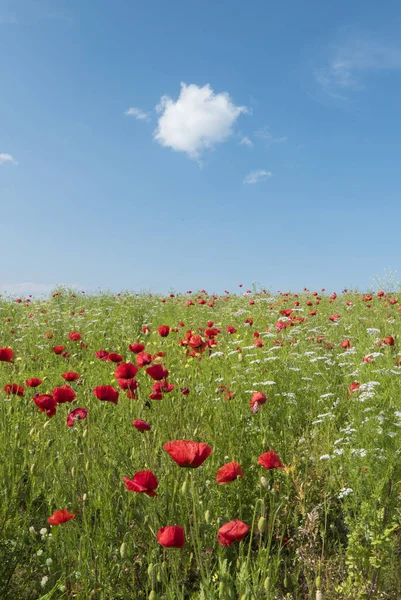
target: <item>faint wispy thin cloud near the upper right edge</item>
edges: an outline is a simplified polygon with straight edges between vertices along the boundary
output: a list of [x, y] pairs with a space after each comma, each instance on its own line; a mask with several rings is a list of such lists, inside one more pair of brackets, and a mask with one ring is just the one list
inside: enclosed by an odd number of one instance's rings
[[366, 75], [401, 69], [401, 48], [360, 35], [349, 35], [332, 51], [328, 65], [315, 69], [316, 82], [335, 98], [364, 88]]

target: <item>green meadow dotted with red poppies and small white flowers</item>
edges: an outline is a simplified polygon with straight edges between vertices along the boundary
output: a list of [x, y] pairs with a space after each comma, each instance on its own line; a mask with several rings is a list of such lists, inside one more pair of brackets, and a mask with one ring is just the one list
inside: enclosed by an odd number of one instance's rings
[[0, 598], [401, 598], [401, 297], [0, 299]]

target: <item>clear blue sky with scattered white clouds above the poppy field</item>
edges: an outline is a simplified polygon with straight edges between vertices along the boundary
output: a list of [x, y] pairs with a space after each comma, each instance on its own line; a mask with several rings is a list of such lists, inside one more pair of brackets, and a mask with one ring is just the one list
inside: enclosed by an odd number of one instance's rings
[[0, 290], [368, 288], [401, 5], [0, 0]]

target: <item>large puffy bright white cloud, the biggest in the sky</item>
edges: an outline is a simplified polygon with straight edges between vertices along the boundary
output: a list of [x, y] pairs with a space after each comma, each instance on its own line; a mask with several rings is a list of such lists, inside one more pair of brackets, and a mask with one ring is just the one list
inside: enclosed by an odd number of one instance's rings
[[245, 106], [236, 106], [227, 92], [215, 94], [209, 84], [199, 87], [181, 83], [176, 101], [163, 96], [154, 139], [177, 152], [199, 160], [203, 150], [224, 142], [233, 133], [235, 121]]

